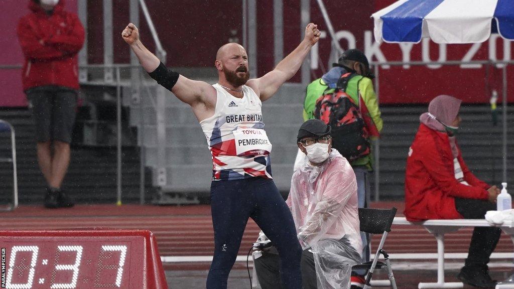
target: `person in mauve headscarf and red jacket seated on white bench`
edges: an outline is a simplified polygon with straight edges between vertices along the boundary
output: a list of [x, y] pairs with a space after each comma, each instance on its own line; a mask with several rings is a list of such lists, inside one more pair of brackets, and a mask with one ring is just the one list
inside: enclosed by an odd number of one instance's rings
[[[405, 174], [405, 216], [409, 221], [429, 219], [484, 219], [496, 209], [500, 190], [471, 173], [457, 145], [461, 100], [447, 95], [434, 98], [409, 148]], [[500, 239], [499, 228], [475, 227], [468, 258], [458, 279], [477, 287], [494, 287], [487, 263]]]

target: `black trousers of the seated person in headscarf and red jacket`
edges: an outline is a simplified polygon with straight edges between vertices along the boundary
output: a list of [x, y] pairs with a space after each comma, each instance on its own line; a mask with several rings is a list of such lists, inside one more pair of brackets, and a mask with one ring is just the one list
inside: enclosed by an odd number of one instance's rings
[[[455, 198], [455, 208], [464, 219], [484, 219], [487, 211], [496, 210], [496, 204], [470, 198]], [[475, 227], [468, 258], [464, 266], [468, 269], [487, 268], [489, 257], [500, 240], [502, 230], [494, 227]]]

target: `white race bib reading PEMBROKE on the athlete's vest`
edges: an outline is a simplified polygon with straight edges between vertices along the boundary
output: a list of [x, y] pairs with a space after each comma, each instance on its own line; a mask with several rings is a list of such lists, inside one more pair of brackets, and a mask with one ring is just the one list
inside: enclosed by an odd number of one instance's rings
[[263, 129], [238, 129], [234, 131], [234, 139], [238, 156], [266, 155], [271, 152], [271, 142]]

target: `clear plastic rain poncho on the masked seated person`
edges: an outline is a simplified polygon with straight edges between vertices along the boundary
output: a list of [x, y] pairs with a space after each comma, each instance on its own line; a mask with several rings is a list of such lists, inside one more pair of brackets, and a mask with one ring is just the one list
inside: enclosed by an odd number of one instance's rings
[[314, 254], [319, 289], [350, 287], [362, 241], [357, 181], [350, 163], [335, 149], [320, 166], [308, 159], [292, 176], [286, 201], [303, 249]]

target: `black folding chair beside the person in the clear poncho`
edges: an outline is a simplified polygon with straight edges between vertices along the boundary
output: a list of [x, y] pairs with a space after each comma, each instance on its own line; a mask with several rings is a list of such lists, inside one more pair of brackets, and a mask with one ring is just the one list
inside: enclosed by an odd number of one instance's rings
[[[391, 286], [393, 289], [397, 289], [393, 270], [391, 269], [391, 263], [389, 262], [389, 255], [382, 249], [384, 242], [386, 242], [387, 235], [391, 231], [391, 225], [393, 224], [395, 214], [396, 208], [389, 210], [359, 208], [360, 230], [370, 234], [382, 234], [382, 239], [380, 240], [380, 244], [378, 245], [377, 252], [375, 253], [375, 258], [373, 258], [373, 261], [353, 266], [353, 269], [369, 270], [368, 277], [366, 277], [366, 282], [363, 289], [366, 289], [370, 286], [370, 281], [375, 268], [386, 269], [389, 280], [391, 281]], [[384, 257], [386, 263], [378, 261], [380, 254]]]

